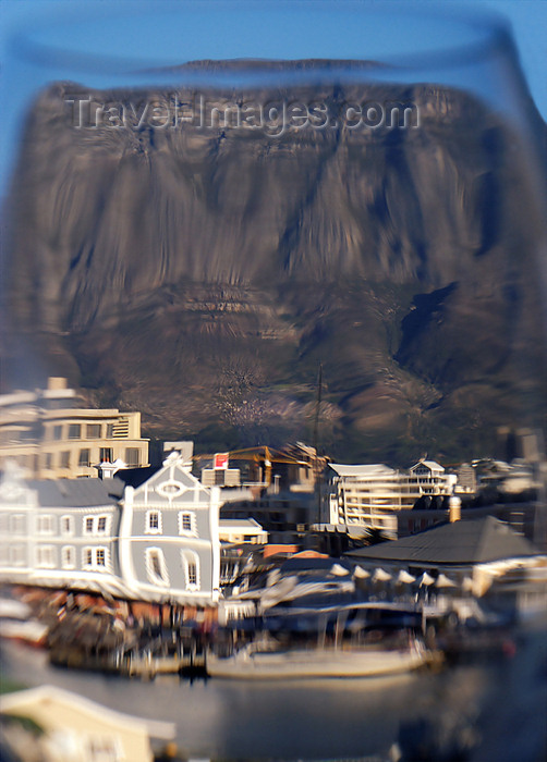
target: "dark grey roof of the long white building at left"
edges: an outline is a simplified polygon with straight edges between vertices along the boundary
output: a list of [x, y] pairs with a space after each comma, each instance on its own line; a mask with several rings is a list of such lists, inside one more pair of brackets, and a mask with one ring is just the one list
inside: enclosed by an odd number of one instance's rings
[[42, 507], [82, 508], [117, 502], [100, 479], [36, 479], [27, 483], [37, 491]]

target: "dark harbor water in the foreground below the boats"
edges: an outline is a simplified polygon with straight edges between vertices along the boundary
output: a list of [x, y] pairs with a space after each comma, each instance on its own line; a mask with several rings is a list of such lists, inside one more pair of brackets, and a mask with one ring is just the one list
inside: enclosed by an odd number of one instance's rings
[[[540, 762], [545, 632], [530, 626], [507, 648], [389, 678], [149, 681], [54, 667], [45, 651], [13, 642], [1, 644], [1, 669], [22, 685], [56, 685], [120, 712], [172, 722], [187, 759], [379, 762], [394, 759], [396, 743], [404, 752], [417, 737], [422, 755], [408, 751], [403, 759]], [[454, 749], [459, 757], [450, 755]]]

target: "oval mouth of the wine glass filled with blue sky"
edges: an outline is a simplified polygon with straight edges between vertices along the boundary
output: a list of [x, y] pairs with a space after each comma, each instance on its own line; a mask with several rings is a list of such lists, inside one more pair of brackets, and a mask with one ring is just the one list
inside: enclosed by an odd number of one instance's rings
[[158, 11], [137, 0], [92, 9], [15, 32], [11, 53], [112, 76], [198, 59], [374, 60], [416, 71], [490, 54], [509, 34], [502, 16], [452, 3], [183, 0]]

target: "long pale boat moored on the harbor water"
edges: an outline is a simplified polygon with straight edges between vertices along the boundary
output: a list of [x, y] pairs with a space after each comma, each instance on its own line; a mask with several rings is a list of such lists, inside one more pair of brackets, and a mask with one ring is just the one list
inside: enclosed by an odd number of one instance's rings
[[405, 649], [363, 648], [268, 648], [251, 642], [229, 656], [207, 655], [212, 677], [240, 679], [288, 679], [302, 677], [368, 677], [396, 675], [428, 661], [428, 651], [417, 640]]

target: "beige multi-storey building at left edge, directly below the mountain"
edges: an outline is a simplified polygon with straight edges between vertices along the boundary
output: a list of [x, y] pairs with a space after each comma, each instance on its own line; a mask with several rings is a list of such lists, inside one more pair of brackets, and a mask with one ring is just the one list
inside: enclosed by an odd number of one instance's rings
[[0, 395], [0, 469], [14, 459], [28, 478], [96, 477], [100, 463], [118, 458], [127, 467], [148, 464], [139, 413], [85, 407], [64, 378]]

